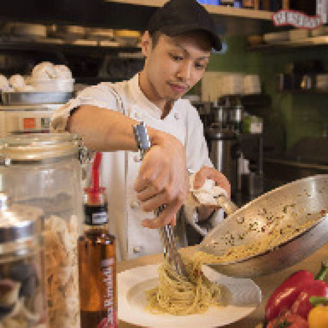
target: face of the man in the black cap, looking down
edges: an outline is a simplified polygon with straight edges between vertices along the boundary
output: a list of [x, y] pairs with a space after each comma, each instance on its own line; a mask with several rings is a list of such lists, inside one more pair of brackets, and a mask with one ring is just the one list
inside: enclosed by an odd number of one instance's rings
[[147, 57], [145, 72], [153, 96], [166, 101], [179, 99], [202, 77], [210, 49], [210, 40], [201, 32], [175, 37], [161, 34], [155, 47], [146, 32], [142, 50]]

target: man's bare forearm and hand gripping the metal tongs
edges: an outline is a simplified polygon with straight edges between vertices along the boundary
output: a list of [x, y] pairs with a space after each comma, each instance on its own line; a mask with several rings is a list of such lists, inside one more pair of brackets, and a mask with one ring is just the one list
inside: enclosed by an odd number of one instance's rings
[[[132, 125], [137, 121], [121, 113], [95, 106], [80, 106], [68, 122], [68, 130], [84, 139], [96, 151], [136, 151]], [[141, 208], [152, 212], [163, 204], [165, 209], [156, 219], [142, 220], [150, 229], [175, 224], [189, 185], [186, 179], [185, 148], [171, 134], [147, 128], [152, 147], [142, 160], [134, 182]]]

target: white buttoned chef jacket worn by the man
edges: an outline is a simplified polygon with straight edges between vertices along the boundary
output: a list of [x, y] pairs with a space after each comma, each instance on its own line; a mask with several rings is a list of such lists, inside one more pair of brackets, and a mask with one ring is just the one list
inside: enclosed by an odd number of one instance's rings
[[[84, 89], [76, 98], [54, 112], [52, 128], [65, 130], [72, 109], [80, 105], [115, 110], [144, 121], [147, 126], [174, 135], [185, 146], [187, 169], [198, 171], [202, 166], [213, 167], [202, 122], [190, 101], [176, 100], [170, 113], [161, 119], [161, 110], [139, 88], [139, 74], [127, 81], [114, 84], [104, 82]], [[100, 183], [107, 188], [109, 230], [117, 238], [118, 260], [163, 251], [157, 229], [144, 228], [140, 224], [146, 218], [153, 218], [154, 214], [141, 210], [133, 189], [139, 167], [140, 160], [136, 152], [103, 154]]]

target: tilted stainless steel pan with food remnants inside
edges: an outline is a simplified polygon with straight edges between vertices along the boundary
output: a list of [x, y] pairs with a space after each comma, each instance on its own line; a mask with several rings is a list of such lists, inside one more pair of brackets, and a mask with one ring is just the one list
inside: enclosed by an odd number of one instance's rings
[[[296, 180], [261, 195], [229, 215], [203, 239], [198, 250], [220, 256], [231, 248], [231, 240], [234, 246], [238, 246], [251, 241], [261, 242], [267, 238], [269, 230], [263, 231], [262, 227], [268, 217], [272, 220], [278, 217], [281, 219], [284, 214], [284, 224], [301, 224], [322, 210], [328, 210], [328, 174]], [[288, 268], [328, 241], [328, 215], [321, 216], [305, 231], [278, 244], [273, 250], [232, 262], [209, 263], [210, 267], [222, 274], [248, 278]], [[250, 229], [254, 225], [256, 229]], [[238, 238], [243, 235], [243, 239]]]

